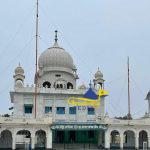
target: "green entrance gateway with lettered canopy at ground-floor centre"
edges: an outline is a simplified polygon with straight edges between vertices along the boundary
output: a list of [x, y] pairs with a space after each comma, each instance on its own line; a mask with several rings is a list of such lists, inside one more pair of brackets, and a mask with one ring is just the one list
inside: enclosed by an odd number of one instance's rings
[[[100, 133], [107, 130], [104, 124], [77, 124], [77, 123], [54, 123], [51, 125], [53, 146], [57, 148], [87, 147], [98, 146]], [[102, 141], [104, 143], [104, 141]], [[101, 145], [102, 145], [101, 143]]]

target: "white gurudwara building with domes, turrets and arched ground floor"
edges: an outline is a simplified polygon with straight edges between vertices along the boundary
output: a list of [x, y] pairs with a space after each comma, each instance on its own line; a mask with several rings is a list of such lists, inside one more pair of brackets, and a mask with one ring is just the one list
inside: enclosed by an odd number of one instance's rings
[[150, 147], [150, 93], [149, 112], [139, 119], [110, 118], [105, 113], [105, 96], [99, 107], [69, 104], [70, 97], [96, 96], [105, 80], [98, 69], [89, 87], [77, 87], [77, 68], [57, 38], [40, 55], [38, 68], [36, 101], [35, 87], [24, 85], [24, 69], [19, 65], [14, 71], [14, 89], [10, 91], [13, 115], [0, 117], [1, 149]]

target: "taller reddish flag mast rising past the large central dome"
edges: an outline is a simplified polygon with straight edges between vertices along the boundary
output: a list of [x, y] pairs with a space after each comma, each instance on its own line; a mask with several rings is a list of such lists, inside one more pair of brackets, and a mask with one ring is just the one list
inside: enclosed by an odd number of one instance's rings
[[35, 118], [37, 115], [36, 103], [37, 103], [37, 88], [38, 88], [38, 42], [39, 42], [38, 37], [39, 37], [39, 0], [36, 1], [36, 40], [35, 40], [36, 58], [35, 58], [35, 99], [34, 99]]

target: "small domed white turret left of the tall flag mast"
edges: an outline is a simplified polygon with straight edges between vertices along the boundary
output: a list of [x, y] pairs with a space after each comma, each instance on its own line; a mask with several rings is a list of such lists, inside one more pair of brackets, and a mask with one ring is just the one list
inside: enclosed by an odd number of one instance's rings
[[14, 86], [15, 87], [23, 87], [25, 75], [24, 75], [23, 68], [20, 66], [20, 63], [19, 63], [19, 66], [15, 69], [14, 73], [15, 73], [13, 76], [14, 81], [15, 81]]

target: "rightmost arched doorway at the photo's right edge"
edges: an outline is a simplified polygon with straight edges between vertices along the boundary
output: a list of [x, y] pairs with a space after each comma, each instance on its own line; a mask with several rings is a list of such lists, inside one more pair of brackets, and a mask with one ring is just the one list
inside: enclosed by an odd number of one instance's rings
[[147, 149], [147, 146], [148, 146], [148, 135], [147, 135], [147, 132], [144, 131], [144, 130], [139, 132], [139, 148], [143, 149], [143, 146]]

